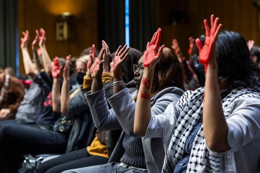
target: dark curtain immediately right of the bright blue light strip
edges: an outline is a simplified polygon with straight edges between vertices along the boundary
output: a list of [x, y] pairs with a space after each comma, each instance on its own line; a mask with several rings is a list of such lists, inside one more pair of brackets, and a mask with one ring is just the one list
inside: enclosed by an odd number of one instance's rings
[[154, 0], [129, 0], [130, 47], [146, 50], [147, 42], [156, 31]]

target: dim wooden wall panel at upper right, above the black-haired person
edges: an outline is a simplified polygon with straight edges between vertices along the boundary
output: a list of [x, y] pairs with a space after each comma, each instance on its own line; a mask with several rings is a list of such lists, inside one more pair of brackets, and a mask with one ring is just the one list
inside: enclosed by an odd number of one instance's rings
[[[170, 47], [172, 39], [178, 39], [185, 56], [188, 56], [188, 37], [204, 34], [203, 19], [209, 21], [211, 14], [220, 18], [222, 29], [240, 32], [260, 46], [259, 11], [251, 0], [157, 0], [156, 3], [156, 28], [162, 28], [161, 43]], [[165, 19], [179, 9], [185, 11], [187, 19], [176, 25], [167, 23]]]

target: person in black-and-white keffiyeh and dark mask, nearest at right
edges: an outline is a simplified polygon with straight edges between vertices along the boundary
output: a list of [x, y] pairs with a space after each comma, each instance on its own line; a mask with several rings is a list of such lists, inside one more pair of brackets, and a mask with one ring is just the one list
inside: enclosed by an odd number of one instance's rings
[[[211, 16], [211, 28], [204, 20], [206, 34], [191, 52], [204, 87], [185, 92], [160, 115], [149, 113], [148, 100], [137, 97], [134, 132], [163, 138], [161, 172], [259, 172], [260, 70], [242, 35], [220, 31], [218, 20]], [[157, 52], [144, 58], [146, 81], [152, 80]], [[145, 85], [140, 90], [150, 93]]]

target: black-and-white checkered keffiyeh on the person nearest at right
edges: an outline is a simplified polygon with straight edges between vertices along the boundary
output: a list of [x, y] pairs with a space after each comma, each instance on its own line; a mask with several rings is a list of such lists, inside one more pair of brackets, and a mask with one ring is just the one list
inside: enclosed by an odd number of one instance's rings
[[[259, 94], [259, 85], [254, 88], [238, 88], [233, 89], [222, 100], [222, 108], [226, 118], [229, 117], [232, 109], [232, 102], [246, 97], [256, 97]], [[180, 115], [174, 127], [174, 131], [170, 140], [169, 148], [166, 152], [162, 172], [173, 173], [177, 162], [182, 159], [184, 153], [184, 145], [187, 136], [203, 111], [204, 87], [192, 91], [185, 92], [178, 100], [177, 108]], [[189, 159], [187, 172], [221, 172], [220, 156], [209, 153], [203, 134], [203, 125], [197, 133]]]

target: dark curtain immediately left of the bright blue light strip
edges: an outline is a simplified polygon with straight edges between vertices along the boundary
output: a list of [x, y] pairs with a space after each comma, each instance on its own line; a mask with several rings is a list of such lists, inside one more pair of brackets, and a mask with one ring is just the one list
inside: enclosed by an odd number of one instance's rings
[[125, 44], [125, 3], [124, 0], [98, 1], [98, 40], [105, 40], [110, 52]]

